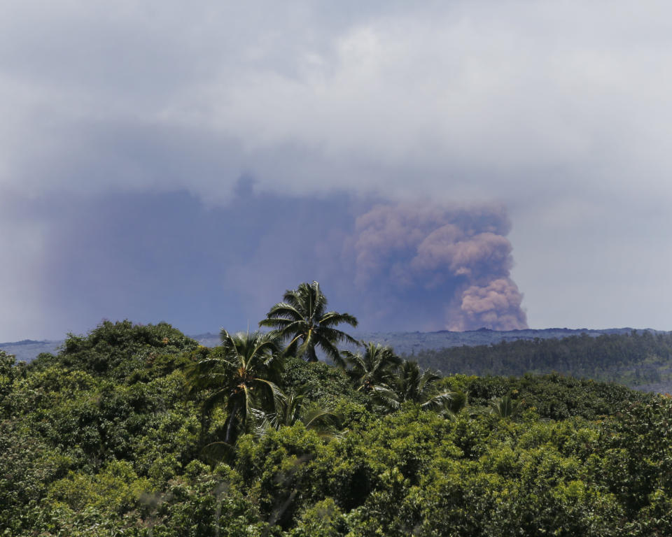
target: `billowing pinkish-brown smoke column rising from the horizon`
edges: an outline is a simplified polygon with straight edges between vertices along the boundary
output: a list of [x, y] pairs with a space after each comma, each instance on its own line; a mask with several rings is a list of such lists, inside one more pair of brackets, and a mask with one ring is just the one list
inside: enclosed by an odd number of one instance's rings
[[356, 220], [356, 287], [398, 329], [526, 328], [509, 230], [498, 206], [374, 206]]

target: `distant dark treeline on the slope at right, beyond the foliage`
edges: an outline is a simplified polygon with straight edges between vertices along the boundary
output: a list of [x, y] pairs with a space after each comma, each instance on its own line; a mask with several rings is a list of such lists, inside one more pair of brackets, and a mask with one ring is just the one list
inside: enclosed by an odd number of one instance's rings
[[666, 385], [672, 378], [672, 334], [632, 331], [596, 338], [582, 334], [422, 350], [412, 358], [443, 373], [520, 376], [557, 372], [630, 386]]

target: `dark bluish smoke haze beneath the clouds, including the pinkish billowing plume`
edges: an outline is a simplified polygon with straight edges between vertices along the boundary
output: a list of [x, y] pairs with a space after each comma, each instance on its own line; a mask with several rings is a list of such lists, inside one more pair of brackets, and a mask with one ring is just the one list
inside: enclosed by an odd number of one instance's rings
[[392, 205], [346, 194], [255, 193], [228, 206], [186, 192], [24, 200], [39, 214], [38, 336], [100, 320], [186, 333], [255, 326], [285, 289], [318, 280], [365, 331], [526, 327], [503, 208]]

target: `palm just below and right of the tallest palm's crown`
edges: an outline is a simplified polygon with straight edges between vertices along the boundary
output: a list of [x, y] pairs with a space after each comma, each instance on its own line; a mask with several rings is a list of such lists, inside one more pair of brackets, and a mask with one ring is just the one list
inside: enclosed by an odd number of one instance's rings
[[372, 341], [363, 345], [363, 353], [344, 350], [342, 357], [335, 361], [342, 368], [350, 366], [348, 373], [358, 391], [371, 392], [376, 386], [386, 385], [393, 378], [401, 359], [394, 354], [391, 347]]

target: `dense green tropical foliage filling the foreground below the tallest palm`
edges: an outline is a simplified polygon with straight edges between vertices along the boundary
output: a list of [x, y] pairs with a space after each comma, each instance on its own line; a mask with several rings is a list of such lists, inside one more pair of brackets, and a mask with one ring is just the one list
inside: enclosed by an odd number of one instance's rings
[[670, 397], [281, 336], [104, 322], [0, 352], [0, 535], [672, 535]]

